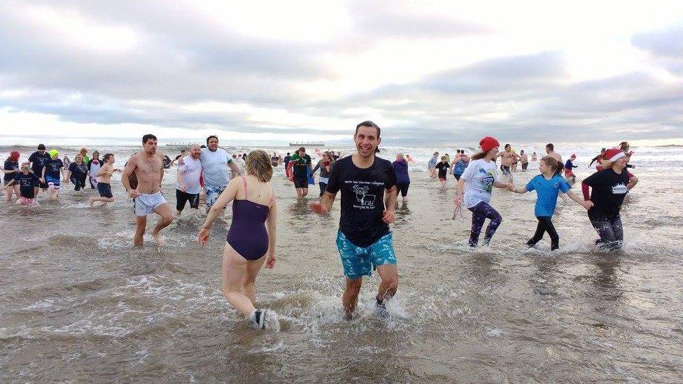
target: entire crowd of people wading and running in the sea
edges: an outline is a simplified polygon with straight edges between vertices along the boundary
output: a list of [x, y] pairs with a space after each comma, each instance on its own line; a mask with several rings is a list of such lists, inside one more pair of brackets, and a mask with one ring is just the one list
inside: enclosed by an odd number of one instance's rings
[[[163, 245], [162, 229], [173, 222], [174, 216], [181, 215], [188, 203], [190, 210], [197, 211], [200, 200], [206, 206], [206, 219], [197, 241], [204, 245], [209, 241], [213, 223], [232, 202], [232, 223], [223, 251], [223, 293], [253, 327], [263, 328], [267, 311], [256, 308], [255, 278], [264, 264], [267, 268], [276, 264], [277, 197], [271, 185], [274, 169], [285, 167], [284, 174], [293, 183], [299, 201], [304, 201], [318, 172], [320, 195], [309, 204], [311, 211], [327, 215], [341, 192], [336, 242], [346, 276], [342, 304], [346, 318], [350, 319], [363, 276], [371, 276], [373, 270], [379, 274], [376, 306], [380, 313], [386, 311], [385, 301], [397, 290], [397, 262], [389, 225], [395, 220], [398, 194], [407, 203], [409, 164], [414, 163], [414, 159], [403, 153], [397, 153], [393, 162], [376, 157], [381, 129], [374, 122], [358, 124], [353, 140], [355, 152], [346, 157], [341, 152], [316, 150], [318, 161], [313, 166], [304, 147], [284, 157], [277, 153], [269, 155], [264, 150], [230, 155], [219, 147], [215, 135], [206, 138], [206, 145], [192, 144], [181, 155], [170, 159], [157, 154], [157, 137], [146, 134], [141, 150], [127, 159], [123, 169], [115, 168], [112, 153], [100, 157], [95, 150], [89, 157], [83, 148], [71, 162], [67, 155], [60, 159], [57, 150], [48, 151], [41, 144], [25, 162], [20, 163], [20, 153], [16, 150], [6, 159], [3, 168], [6, 201], [16, 199], [16, 204], [34, 206], [39, 193], [58, 199], [62, 183], [71, 183], [76, 191], [87, 185], [97, 189], [99, 196], [89, 197], [90, 206], [106, 205], [115, 199], [111, 176], [121, 173], [122, 186], [134, 206], [135, 246], [143, 246], [148, 215], [159, 216], [151, 235]], [[479, 149], [472, 155], [456, 150], [452, 159], [447, 153], [439, 157], [439, 152], [435, 152], [428, 162], [429, 176], [438, 178], [442, 187], [446, 187], [449, 174], [456, 180], [453, 218], [463, 217], [463, 206], [472, 212], [471, 247], [479, 243], [486, 219], [489, 222], [484, 244], [491, 243], [502, 223], [502, 216], [490, 204], [494, 188], [518, 194], [536, 192], [534, 214], [538, 224], [526, 246], [535, 246], [547, 232], [551, 250], [559, 248], [552, 217], [558, 196], [566, 194], [586, 209], [598, 233], [596, 246], [607, 250], [621, 247], [624, 232], [619, 211], [628, 191], [638, 183], [638, 178], [627, 170], [633, 168], [628, 164], [633, 155], [628, 143], [603, 148], [593, 158], [589, 166], [596, 163], [596, 172], [582, 180], [581, 194], [571, 190], [571, 184], [576, 181], [572, 171], [577, 167], [573, 163], [576, 156], [562, 162], [552, 143], [546, 145], [546, 155], [540, 159], [536, 152], [530, 159], [523, 150], [517, 154], [510, 144], [505, 144], [501, 151], [500, 143], [491, 136], [481, 138]], [[540, 174], [526, 185], [514, 185], [512, 173], [518, 171], [518, 164], [521, 164], [519, 171], [528, 171], [529, 162], [538, 163]], [[175, 213], [162, 194], [164, 172], [171, 166], [176, 166]]]

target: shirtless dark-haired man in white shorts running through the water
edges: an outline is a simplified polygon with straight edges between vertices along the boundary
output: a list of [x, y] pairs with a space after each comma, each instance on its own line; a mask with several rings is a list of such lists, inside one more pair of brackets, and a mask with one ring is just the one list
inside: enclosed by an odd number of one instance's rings
[[[138, 185], [135, 189], [130, 186], [128, 177], [135, 174]], [[152, 236], [160, 246], [164, 245], [164, 238], [160, 231], [173, 222], [171, 208], [161, 194], [161, 180], [164, 178], [164, 162], [157, 155], [157, 136], [146, 134], [142, 136], [142, 151], [132, 155], [121, 175], [121, 183], [128, 196], [135, 202], [135, 246], [143, 246], [143, 235], [147, 225], [147, 215], [154, 212], [160, 219], [152, 230]]]

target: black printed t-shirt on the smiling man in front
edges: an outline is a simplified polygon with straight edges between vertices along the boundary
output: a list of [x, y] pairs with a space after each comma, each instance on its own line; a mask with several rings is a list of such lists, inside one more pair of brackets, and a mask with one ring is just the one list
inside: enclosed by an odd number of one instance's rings
[[351, 156], [332, 165], [325, 190], [342, 190], [342, 217], [339, 229], [351, 243], [367, 247], [389, 233], [382, 221], [384, 192], [396, 185], [396, 173], [388, 160], [374, 158], [367, 169], [353, 164]]

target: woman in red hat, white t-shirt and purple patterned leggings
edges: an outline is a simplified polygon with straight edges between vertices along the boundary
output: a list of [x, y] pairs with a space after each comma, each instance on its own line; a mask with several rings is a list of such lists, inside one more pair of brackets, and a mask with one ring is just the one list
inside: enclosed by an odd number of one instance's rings
[[484, 227], [484, 220], [491, 220], [484, 235], [484, 244], [486, 245], [491, 243], [495, 230], [502, 222], [500, 213], [488, 204], [491, 201], [493, 187], [507, 188], [508, 186], [498, 181], [498, 174], [495, 171], [493, 159], [500, 156], [498, 145], [500, 145], [498, 140], [491, 136], [482, 138], [479, 141], [481, 152], [472, 155], [472, 161], [467, 165], [463, 176], [458, 181], [458, 195], [454, 201], [456, 211], [460, 209], [463, 203], [467, 209], [472, 211], [470, 247], [476, 247], [479, 243], [479, 234], [481, 234], [481, 227]]

